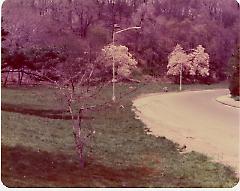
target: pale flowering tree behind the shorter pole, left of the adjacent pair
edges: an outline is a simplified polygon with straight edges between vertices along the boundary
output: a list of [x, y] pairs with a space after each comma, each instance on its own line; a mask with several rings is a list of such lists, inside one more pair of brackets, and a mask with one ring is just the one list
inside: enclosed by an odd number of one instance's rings
[[168, 56], [167, 75], [179, 76], [180, 91], [182, 89], [182, 75], [191, 69], [189, 56], [183, 48], [177, 44], [171, 54]]

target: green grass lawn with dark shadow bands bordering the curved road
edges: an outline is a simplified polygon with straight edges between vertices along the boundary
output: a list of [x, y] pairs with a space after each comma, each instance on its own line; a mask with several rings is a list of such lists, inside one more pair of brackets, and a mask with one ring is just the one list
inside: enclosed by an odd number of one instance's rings
[[[165, 137], [146, 134], [135, 119], [131, 99], [142, 93], [176, 91], [177, 85], [148, 83], [130, 96], [134, 84], [118, 84], [119, 104], [87, 113], [96, 133], [87, 148], [86, 166], [79, 167], [71, 121], [55, 90], [46, 87], [2, 88], [2, 181], [8, 187], [233, 187], [231, 168], [191, 152], [181, 154]], [[227, 87], [185, 85], [185, 90]], [[100, 99], [101, 98], [101, 99]], [[111, 99], [106, 87], [97, 99]], [[46, 114], [47, 113], [47, 114]], [[57, 117], [56, 117], [57, 116]], [[59, 117], [60, 116], [60, 117]]]

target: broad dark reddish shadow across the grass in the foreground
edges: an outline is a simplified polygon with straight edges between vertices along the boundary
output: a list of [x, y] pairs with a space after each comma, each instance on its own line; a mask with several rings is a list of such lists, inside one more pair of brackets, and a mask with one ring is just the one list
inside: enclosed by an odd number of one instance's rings
[[151, 169], [116, 169], [88, 159], [84, 168], [74, 156], [2, 145], [2, 181], [8, 187], [137, 187]]

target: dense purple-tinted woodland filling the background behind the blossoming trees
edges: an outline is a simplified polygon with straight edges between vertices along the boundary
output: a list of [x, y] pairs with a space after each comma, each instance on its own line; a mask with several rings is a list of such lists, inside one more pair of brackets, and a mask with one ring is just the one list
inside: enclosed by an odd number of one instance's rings
[[72, 75], [91, 64], [104, 71], [99, 55], [113, 32], [140, 26], [115, 39], [136, 59], [135, 75], [162, 79], [177, 44], [187, 53], [202, 45], [207, 81], [224, 80], [239, 44], [239, 10], [235, 0], [6, 0], [2, 72], [16, 70], [21, 80], [29, 71], [54, 77], [52, 68]]

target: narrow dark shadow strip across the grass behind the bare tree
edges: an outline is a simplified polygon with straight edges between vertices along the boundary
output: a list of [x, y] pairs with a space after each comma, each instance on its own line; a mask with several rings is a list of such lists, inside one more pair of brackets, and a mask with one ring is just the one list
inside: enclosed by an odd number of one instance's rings
[[[66, 110], [30, 109], [27, 106], [10, 104], [10, 103], [2, 103], [1, 110], [8, 111], [8, 112], [21, 113], [21, 114], [34, 115], [34, 116], [44, 117], [49, 119], [64, 119], [64, 120], [72, 119], [72, 116], [67, 114], [68, 111]], [[93, 117], [87, 117], [87, 116], [83, 118], [93, 119]]]

